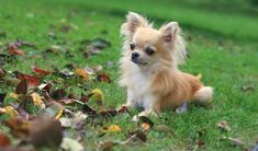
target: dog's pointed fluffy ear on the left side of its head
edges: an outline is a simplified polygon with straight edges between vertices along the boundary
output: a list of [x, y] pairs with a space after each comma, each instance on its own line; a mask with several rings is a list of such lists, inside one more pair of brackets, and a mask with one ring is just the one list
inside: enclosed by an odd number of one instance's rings
[[128, 14], [126, 15], [126, 22], [123, 23], [121, 26], [121, 35], [132, 37], [137, 27], [141, 26], [149, 26], [148, 21], [135, 12], [128, 12]]

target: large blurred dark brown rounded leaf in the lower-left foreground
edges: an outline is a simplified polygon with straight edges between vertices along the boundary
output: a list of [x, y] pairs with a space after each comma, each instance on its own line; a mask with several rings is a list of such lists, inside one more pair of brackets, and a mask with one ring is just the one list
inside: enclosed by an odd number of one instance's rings
[[30, 139], [35, 147], [59, 147], [63, 139], [61, 126], [51, 117], [40, 117], [32, 123]]

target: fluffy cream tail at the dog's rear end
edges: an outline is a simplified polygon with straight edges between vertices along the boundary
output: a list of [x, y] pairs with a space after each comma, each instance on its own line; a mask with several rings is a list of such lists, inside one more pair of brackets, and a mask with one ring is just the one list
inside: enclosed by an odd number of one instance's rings
[[210, 86], [203, 86], [198, 90], [193, 95], [193, 101], [200, 105], [207, 105], [211, 103], [213, 89]]

